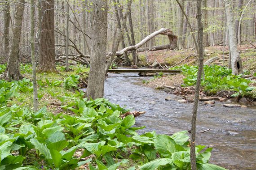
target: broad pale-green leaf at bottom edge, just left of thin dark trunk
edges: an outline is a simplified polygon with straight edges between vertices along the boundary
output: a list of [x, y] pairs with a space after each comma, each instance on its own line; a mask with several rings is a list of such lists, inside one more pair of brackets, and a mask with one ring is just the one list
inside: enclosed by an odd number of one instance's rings
[[141, 166], [140, 170], [155, 170], [159, 166], [168, 165], [168, 164], [172, 164], [172, 159], [169, 159], [169, 158], [156, 159], [154, 161], [150, 161], [144, 164], [143, 166]]

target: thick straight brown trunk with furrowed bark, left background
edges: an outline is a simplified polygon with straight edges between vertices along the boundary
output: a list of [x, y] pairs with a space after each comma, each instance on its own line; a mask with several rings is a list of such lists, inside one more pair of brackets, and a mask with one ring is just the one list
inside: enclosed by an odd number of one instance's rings
[[39, 69], [42, 72], [56, 72], [54, 49], [54, 0], [43, 0], [40, 34]]

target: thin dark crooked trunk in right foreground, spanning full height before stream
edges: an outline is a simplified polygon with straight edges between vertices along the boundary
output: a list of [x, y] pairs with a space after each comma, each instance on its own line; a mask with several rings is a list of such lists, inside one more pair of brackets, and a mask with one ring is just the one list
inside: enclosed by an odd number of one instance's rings
[[202, 23], [202, 0], [197, 0], [197, 21], [198, 21], [198, 35], [199, 35], [199, 68], [197, 74], [197, 81], [195, 87], [194, 95], [194, 107], [191, 121], [191, 141], [190, 141], [190, 160], [191, 160], [191, 170], [196, 170], [196, 153], [195, 153], [195, 137], [196, 137], [196, 118], [197, 118], [197, 109], [199, 102], [199, 93], [200, 93], [200, 84], [201, 77], [203, 72], [203, 56], [204, 56], [204, 47], [203, 47], [203, 23]]

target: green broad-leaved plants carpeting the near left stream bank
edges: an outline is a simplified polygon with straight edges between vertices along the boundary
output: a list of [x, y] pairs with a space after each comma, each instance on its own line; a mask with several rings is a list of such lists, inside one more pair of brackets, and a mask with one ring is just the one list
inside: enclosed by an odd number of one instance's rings
[[[32, 109], [30, 65], [21, 81], [0, 80], [1, 170], [187, 170], [186, 131], [172, 136], [138, 134], [135, 118], [107, 99], [89, 100], [78, 89], [82, 66], [72, 72], [38, 74], [40, 110]], [[5, 65], [0, 65], [1, 70]], [[185, 69], [185, 68], [184, 68]], [[224, 170], [209, 164], [212, 148], [196, 147], [199, 170]]]

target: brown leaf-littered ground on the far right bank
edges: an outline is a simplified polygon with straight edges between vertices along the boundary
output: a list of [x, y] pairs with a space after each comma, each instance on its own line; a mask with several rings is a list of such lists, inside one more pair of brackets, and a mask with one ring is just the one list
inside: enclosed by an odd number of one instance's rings
[[[252, 45], [243, 45], [239, 47], [240, 56], [242, 58], [243, 63], [243, 71], [247, 74], [254, 75], [256, 73], [256, 50], [252, 47]], [[148, 51], [147, 53], [141, 52], [138, 54], [140, 59], [141, 66], [149, 66], [154, 63], [154, 61], [159, 62], [160, 66], [159, 68], [172, 68], [173, 66], [182, 66], [184, 64], [192, 66], [192, 65], [198, 65], [198, 58], [195, 55], [194, 50], [161, 50], [161, 51]], [[206, 47], [205, 48], [205, 56], [204, 56], [204, 62], [208, 59], [211, 59], [213, 57], [219, 57], [215, 61], [212, 62], [211, 65], [219, 65], [228, 67], [229, 61], [229, 49], [228, 47], [223, 46], [214, 46], [214, 47]], [[168, 93], [174, 93], [177, 95], [183, 95], [185, 98], [187, 98], [187, 95], [194, 95], [194, 86], [190, 87], [181, 87], [181, 85], [184, 83], [183, 79], [185, 78], [184, 74], [176, 74], [176, 75], [163, 75], [163, 76], [155, 76], [154, 79], [151, 79], [150, 81], [144, 82], [146, 86], [150, 86], [152, 88], [159, 89], [160, 86], [172, 86], [176, 87], [176, 90], [170, 90]], [[256, 87], [256, 82], [251, 81], [250, 86]], [[162, 88], [163, 89], [163, 88]], [[254, 90], [255, 92], [255, 90]], [[201, 90], [202, 96], [218, 96], [223, 98], [232, 98], [230, 97], [234, 93], [230, 93], [228, 91], [223, 91], [221, 93], [205, 93], [205, 91]], [[237, 99], [240, 99], [238, 97]], [[255, 94], [254, 96], [249, 96], [249, 100], [256, 100]]]

